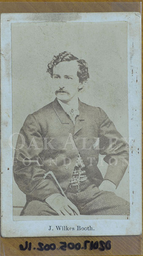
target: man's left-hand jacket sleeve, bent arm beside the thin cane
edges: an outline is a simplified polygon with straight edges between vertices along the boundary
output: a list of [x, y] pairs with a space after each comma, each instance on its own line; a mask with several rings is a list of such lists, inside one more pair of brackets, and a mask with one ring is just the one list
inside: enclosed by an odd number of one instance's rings
[[53, 180], [44, 179], [43, 138], [34, 115], [28, 115], [16, 143], [14, 179], [24, 194], [45, 200], [51, 194], [60, 193]]

